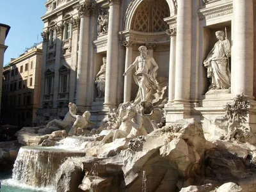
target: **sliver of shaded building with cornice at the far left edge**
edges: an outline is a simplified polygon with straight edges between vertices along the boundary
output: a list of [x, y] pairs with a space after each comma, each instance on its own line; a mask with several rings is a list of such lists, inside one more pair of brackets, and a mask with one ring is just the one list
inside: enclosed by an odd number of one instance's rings
[[[10, 26], [0, 23], [0, 76], [2, 76], [3, 74], [4, 52], [8, 47], [5, 45], [5, 39], [9, 33], [9, 30], [10, 30]], [[2, 88], [2, 79], [0, 79], [0, 89], [1, 88]], [[1, 93], [2, 92], [0, 90], [0, 100], [1, 100]], [[1, 106], [1, 101], [0, 101], [0, 106]]]

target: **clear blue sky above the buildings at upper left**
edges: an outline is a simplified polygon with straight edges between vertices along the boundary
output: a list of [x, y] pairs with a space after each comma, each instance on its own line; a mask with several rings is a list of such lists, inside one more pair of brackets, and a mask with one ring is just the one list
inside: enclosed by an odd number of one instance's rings
[[40, 19], [46, 12], [46, 0], [0, 0], [0, 23], [11, 27], [5, 44], [4, 65], [17, 58], [26, 47], [42, 41], [44, 23]]

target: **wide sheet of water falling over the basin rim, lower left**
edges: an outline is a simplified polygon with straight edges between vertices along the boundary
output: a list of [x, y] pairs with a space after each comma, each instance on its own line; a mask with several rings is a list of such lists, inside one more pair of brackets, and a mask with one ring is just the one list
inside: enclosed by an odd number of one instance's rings
[[84, 152], [54, 147], [21, 147], [13, 165], [13, 179], [29, 186], [55, 186], [58, 168], [68, 157], [83, 157]]

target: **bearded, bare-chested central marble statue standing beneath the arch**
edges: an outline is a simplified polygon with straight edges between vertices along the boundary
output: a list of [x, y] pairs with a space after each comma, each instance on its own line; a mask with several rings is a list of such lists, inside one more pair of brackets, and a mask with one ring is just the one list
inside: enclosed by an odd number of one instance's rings
[[[140, 104], [141, 102], [151, 102], [156, 104], [164, 97], [164, 90], [166, 90], [166, 81], [159, 84], [157, 81], [157, 69], [158, 65], [154, 58], [150, 58], [147, 54], [147, 47], [144, 45], [139, 47], [140, 56], [136, 58], [134, 63], [127, 68], [124, 72], [126, 76], [132, 71], [132, 68], [136, 67], [134, 74], [134, 81], [139, 86], [136, 99], [133, 104]], [[163, 79], [163, 78], [162, 78]]]

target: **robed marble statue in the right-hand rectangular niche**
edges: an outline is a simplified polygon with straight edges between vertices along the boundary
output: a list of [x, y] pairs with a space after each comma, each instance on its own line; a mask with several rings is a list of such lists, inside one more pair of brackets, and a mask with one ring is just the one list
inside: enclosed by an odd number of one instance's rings
[[231, 86], [228, 57], [230, 57], [230, 42], [225, 38], [224, 31], [216, 31], [218, 42], [204, 60], [207, 77], [211, 79], [209, 90], [228, 89]]

